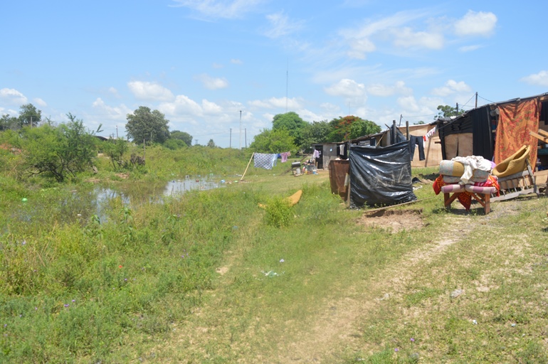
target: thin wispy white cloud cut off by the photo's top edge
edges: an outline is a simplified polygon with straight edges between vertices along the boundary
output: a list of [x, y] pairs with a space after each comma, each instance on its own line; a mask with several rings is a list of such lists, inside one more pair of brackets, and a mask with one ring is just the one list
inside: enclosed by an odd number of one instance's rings
[[174, 0], [176, 6], [197, 11], [209, 18], [241, 18], [249, 11], [253, 11], [263, 0]]

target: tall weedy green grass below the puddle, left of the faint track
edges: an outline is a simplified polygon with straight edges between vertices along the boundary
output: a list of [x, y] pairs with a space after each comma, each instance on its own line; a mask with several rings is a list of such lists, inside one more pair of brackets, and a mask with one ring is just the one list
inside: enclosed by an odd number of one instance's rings
[[256, 209], [252, 191], [223, 188], [135, 207], [118, 198], [102, 222], [74, 213], [78, 194], [3, 187], [0, 361], [13, 363], [112, 360], [169, 331]]

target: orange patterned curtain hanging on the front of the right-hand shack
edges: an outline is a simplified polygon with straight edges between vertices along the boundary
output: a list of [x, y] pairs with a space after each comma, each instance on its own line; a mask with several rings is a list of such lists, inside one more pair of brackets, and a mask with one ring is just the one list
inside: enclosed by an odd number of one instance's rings
[[537, 99], [509, 102], [499, 106], [500, 117], [495, 136], [495, 164], [499, 164], [524, 145], [531, 146], [529, 162], [537, 162], [537, 138], [529, 132], [539, 130]]

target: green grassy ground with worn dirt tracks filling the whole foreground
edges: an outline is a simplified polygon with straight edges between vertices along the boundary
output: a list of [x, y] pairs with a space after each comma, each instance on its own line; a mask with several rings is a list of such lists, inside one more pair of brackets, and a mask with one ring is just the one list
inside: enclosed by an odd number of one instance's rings
[[[189, 172], [170, 155], [158, 150], [124, 181], [102, 168], [100, 178], [147, 186], [137, 180], [221, 174]], [[4, 166], [2, 361], [548, 360], [544, 198], [483, 216], [448, 213], [438, 196], [406, 206], [422, 209], [421, 222], [392, 232], [358, 224], [362, 213], [344, 209], [325, 174], [251, 166], [248, 183], [162, 204], [112, 200], [99, 222], [75, 213], [89, 183], [21, 186]], [[301, 186], [300, 203], [285, 206], [280, 196]]]

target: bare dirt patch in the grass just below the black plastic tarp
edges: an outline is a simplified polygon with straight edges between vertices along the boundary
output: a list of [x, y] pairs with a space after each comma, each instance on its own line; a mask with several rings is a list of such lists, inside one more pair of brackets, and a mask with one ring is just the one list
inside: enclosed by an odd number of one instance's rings
[[420, 229], [424, 226], [423, 210], [378, 210], [364, 213], [358, 224], [373, 228], [386, 228], [391, 232]]

